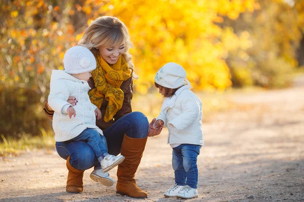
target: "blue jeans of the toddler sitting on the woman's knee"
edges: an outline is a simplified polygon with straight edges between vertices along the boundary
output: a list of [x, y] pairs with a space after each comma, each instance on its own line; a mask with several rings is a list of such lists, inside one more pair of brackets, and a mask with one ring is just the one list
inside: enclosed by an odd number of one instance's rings
[[85, 129], [77, 137], [74, 137], [70, 140], [86, 141], [92, 147], [98, 162], [101, 162], [103, 158], [108, 155], [105, 137], [103, 135], [100, 135], [96, 130], [92, 128]]

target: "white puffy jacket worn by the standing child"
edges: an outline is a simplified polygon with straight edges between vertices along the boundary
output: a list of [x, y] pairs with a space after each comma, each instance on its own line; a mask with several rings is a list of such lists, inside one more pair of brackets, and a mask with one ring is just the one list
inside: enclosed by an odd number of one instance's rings
[[190, 83], [179, 88], [175, 94], [164, 100], [158, 119], [168, 127], [170, 144], [204, 145], [202, 130], [202, 102], [191, 90]]

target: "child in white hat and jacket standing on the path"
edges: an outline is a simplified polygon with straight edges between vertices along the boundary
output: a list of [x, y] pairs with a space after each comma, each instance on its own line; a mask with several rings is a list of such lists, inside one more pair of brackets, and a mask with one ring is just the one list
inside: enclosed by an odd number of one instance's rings
[[190, 88], [186, 72], [176, 63], [167, 63], [155, 76], [155, 86], [165, 98], [155, 127], [168, 127], [167, 143], [173, 149], [175, 185], [167, 197], [198, 197], [197, 159], [204, 144], [202, 102]]

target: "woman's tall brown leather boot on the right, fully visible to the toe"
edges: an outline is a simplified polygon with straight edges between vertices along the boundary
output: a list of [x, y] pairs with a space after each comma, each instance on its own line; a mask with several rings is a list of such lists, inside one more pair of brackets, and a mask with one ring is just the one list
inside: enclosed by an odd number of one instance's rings
[[125, 157], [125, 160], [118, 165], [116, 193], [132, 198], [148, 197], [147, 192], [141, 190], [134, 179], [146, 142], [147, 137], [138, 139], [124, 136], [121, 155]]

